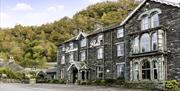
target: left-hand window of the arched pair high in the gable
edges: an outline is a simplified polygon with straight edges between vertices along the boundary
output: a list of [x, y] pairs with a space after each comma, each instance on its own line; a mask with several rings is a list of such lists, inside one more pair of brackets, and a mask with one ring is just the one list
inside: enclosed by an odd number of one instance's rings
[[144, 16], [141, 20], [141, 30], [146, 30], [149, 28], [149, 18], [148, 16]]

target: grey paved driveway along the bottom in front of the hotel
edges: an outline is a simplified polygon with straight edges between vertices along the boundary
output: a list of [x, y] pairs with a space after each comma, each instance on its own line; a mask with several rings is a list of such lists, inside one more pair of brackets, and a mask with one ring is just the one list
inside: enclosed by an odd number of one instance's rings
[[0, 91], [140, 91], [132, 89], [101, 87], [101, 86], [78, 86], [60, 84], [15, 84], [0, 83]]

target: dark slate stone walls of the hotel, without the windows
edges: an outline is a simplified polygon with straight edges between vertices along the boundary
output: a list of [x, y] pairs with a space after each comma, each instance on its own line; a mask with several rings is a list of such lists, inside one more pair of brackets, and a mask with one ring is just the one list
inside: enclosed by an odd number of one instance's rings
[[[125, 62], [125, 79], [131, 81], [131, 62], [133, 60], [141, 60], [143, 58], [147, 59], [161, 59], [163, 60], [163, 65], [165, 72], [161, 72], [165, 76], [163, 80], [166, 79], [177, 79], [180, 80], [180, 8], [154, 2], [147, 0], [149, 4], [144, 4], [140, 9], [137, 10], [135, 14], [124, 24], [118, 26], [111, 26], [110, 28], [104, 28], [103, 30], [96, 30], [87, 36], [81, 35], [79, 39], [76, 40], [77, 36], [59, 45], [57, 53], [58, 70], [57, 75], [61, 79], [61, 70], [64, 70], [65, 80], [70, 80], [73, 75], [71, 71], [67, 69], [70, 67], [69, 54], [74, 54], [74, 61], [80, 66], [78, 71], [78, 79], [82, 80], [82, 71], [89, 71], [89, 79], [95, 80], [97, 78], [97, 67], [102, 67], [103, 78], [101, 79], [116, 79], [117, 78], [117, 63]], [[162, 13], [159, 14], [160, 26], [152, 29], [147, 29], [141, 31], [140, 20], [138, 17], [145, 11], [154, 8], [159, 8]], [[124, 28], [124, 37], [117, 38], [118, 28]], [[158, 30], [163, 30], [165, 32], [165, 45], [163, 50], [157, 50], [147, 53], [131, 53], [131, 41], [135, 36], [141, 36], [144, 33], [153, 33]], [[91, 46], [92, 40], [97, 40], [99, 35], [103, 35], [103, 41], [100, 45]], [[87, 44], [85, 47], [80, 47], [80, 41], [86, 38]], [[69, 43], [73, 42], [76, 51], [65, 52], [62, 51], [62, 46], [66, 48]], [[117, 44], [124, 43], [124, 56], [117, 56]], [[98, 48], [103, 48], [103, 59], [97, 59]], [[84, 62], [80, 61], [80, 53], [82, 51], [86, 52], [86, 60]], [[61, 57], [65, 55], [65, 64], [61, 64]], [[164, 58], [164, 59], [163, 59]], [[87, 69], [81, 69], [83, 63], [86, 64]], [[73, 69], [74, 66], [72, 66]], [[161, 67], [161, 66], [160, 66]], [[163, 67], [162, 67], [163, 68]], [[162, 76], [160, 75], [160, 76]], [[162, 80], [161, 79], [161, 80]], [[72, 81], [70, 81], [72, 82]]]

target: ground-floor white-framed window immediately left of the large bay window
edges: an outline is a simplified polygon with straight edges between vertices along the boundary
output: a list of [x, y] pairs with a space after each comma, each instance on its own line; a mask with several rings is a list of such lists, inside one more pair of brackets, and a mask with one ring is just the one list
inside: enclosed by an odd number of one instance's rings
[[119, 77], [124, 78], [125, 63], [118, 63], [116, 65], [116, 68], [117, 68], [117, 78]]

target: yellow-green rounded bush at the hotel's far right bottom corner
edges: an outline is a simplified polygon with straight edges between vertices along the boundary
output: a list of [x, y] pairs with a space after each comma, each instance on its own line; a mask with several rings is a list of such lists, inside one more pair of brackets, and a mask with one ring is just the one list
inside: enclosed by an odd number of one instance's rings
[[169, 80], [165, 82], [165, 89], [176, 90], [178, 89], [178, 82], [176, 80]]

